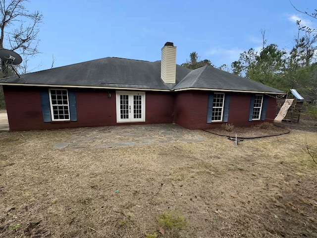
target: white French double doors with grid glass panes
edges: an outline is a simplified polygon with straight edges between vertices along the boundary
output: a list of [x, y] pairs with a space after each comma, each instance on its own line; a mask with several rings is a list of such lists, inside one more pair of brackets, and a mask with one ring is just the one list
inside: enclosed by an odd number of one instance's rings
[[145, 92], [116, 92], [117, 122], [145, 121]]

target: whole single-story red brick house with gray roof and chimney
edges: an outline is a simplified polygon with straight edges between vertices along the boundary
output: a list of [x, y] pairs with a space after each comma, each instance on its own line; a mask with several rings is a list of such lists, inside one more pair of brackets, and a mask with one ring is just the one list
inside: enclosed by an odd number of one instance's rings
[[249, 126], [275, 118], [285, 93], [203, 66], [176, 64], [166, 43], [161, 60], [104, 58], [0, 80], [11, 131], [177, 123], [189, 129]]

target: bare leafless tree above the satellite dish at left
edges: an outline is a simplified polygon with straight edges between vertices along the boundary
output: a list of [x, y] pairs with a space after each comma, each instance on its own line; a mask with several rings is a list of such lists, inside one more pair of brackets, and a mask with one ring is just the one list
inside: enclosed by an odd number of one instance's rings
[[[25, 7], [27, 2], [28, 0], [0, 0], [0, 49], [17, 51], [22, 58], [39, 53], [39, 23], [43, 18], [39, 11], [29, 13]], [[4, 68], [4, 62], [1, 62], [2, 71]]]

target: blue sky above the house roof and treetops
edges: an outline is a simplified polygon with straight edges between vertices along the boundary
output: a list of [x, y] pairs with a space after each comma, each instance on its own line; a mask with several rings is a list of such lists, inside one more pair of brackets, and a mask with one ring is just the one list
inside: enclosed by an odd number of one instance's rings
[[[313, 12], [316, 0], [292, 0]], [[165, 42], [177, 47], [181, 64], [196, 51], [215, 66], [230, 65], [239, 54], [267, 43], [290, 50], [296, 19], [317, 27], [317, 20], [296, 11], [289, 0], [30, 0], [43, 14], [39, 54], [29, 71], [105, 57], [160, 60]]]

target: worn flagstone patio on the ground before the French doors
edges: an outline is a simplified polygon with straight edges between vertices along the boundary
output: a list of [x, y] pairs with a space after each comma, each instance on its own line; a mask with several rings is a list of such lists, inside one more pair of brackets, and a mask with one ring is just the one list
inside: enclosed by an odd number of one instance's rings
[[205, 139], [197, 131], [176, 124], [85, 127], [66, 141], [54, 145], [54, 149], [106, 148], [177, 141], [199, 142]]

